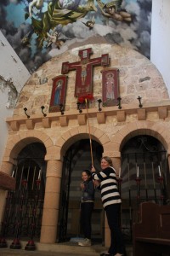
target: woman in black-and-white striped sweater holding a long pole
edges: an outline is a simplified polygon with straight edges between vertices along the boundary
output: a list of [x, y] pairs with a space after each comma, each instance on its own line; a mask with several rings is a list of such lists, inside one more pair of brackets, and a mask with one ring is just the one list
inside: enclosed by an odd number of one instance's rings
[[110, 157], [105, 156], [101, 159], [101, 169], [102, 172], [96, 173], [93, 166], [91, 171], [93, 179], [100, 181], [101, 200], [111, 230], [111, 246], [108, 253], [102, 253], [100, 256], [125, 256], [125, 247], [118, 221], [122, 201], [117, 188], [116, 172]]

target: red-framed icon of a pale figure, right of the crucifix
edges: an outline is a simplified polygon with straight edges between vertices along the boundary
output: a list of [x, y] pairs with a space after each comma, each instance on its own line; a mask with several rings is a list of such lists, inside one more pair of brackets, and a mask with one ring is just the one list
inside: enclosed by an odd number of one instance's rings
[[102, 73], [102, 102], [103, 106], [116, 106], [119, 96], [117, 68], [106, 68]]

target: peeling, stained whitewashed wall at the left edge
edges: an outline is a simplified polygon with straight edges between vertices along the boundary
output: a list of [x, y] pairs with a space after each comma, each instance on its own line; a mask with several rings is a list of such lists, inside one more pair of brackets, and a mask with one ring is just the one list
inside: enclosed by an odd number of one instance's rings
[[5, 119], [13, 114], [14, 104], [17, 100], [15, 95], [26, 84], [30, 73], [8, 44], [3, 33], [0, 31], [0, 162], [8, 136], [8, 127]]

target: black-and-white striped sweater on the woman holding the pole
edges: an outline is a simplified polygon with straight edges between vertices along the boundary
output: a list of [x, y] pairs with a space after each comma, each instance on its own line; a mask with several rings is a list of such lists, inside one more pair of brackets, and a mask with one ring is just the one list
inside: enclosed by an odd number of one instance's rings
[[92, 172], [92, 177], [94, 180], [100, 181], [101, 200], [104, 208], [122, 202], [117, 188], [116, 172], [113, 167], [109, 166], [99, 173]]

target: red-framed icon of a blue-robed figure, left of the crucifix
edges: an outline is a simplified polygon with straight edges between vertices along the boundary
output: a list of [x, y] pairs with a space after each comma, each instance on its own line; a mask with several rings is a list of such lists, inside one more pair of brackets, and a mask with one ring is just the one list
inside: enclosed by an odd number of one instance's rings
[[65, 106], [65, 92], [67, 85], [67, 76], [59, 75], [53, 79], [53, 88], [51, 92], [51, 101], [49, 112], [59, 112]]

